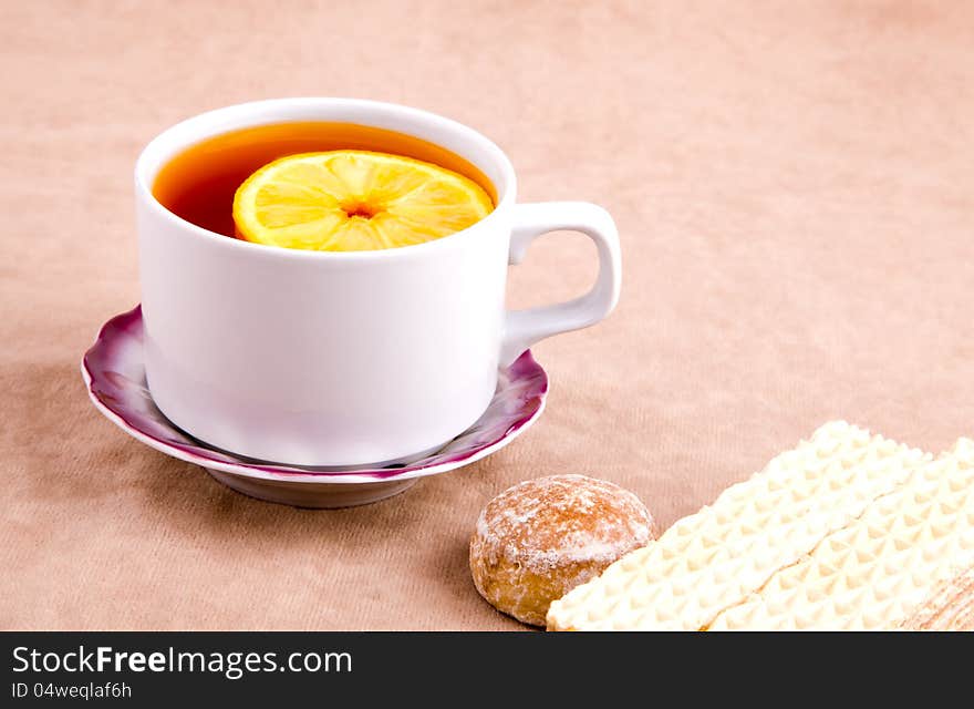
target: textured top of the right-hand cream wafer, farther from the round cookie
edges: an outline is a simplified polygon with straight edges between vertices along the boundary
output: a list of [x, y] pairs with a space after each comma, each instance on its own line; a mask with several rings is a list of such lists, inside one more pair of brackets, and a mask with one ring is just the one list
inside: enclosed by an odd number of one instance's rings
[[711, 629], [893, 629], [972, 562], [974, 441], [962, 439]]

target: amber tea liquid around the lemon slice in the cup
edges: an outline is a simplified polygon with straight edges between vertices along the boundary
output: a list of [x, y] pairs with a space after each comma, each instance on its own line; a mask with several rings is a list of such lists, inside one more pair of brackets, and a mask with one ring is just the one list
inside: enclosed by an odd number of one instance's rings
[[286, 155], [336, 150], [376, 151], [433, 163], [473, 179], [497, 202], [487, 176], [445, 147], [385, 129], [320, 121], [272, 123], [206, 138], [159, 171], [153, 196], [176, 216], [234, 238], [234, 194], [255, 171]]

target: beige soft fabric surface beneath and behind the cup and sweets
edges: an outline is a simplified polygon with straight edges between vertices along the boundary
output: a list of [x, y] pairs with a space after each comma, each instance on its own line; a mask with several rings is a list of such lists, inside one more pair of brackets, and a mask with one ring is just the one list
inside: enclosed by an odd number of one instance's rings
[[[466, 543], [508, 485], [584, 472], [661, 526], [832, 418], [974, 433], [974, 6], [6, 2], [0, 627], [515, 629]], [[524, 201], [619, 223], [623, 295], [535, 348], [510, 448], [342, 511], [267, 504], [128, 439], [79, 360], [138, 300], [131, 169], [246, 100], [412, 104], [505, 147]], [[514, 305], [581, 292], [556, 235]]]

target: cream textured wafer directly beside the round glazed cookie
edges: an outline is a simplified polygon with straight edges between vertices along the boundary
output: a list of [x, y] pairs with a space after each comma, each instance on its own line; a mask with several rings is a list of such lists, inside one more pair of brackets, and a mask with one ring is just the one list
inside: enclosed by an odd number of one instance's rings
[[858, 517], [931, 456], [833, 421], [577, 587], [555, 630], [696, 630]]

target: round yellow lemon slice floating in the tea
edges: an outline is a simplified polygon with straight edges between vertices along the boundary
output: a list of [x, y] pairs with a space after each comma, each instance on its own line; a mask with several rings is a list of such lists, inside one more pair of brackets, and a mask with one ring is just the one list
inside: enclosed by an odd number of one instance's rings
[[363, 251], [454, 234], [494, 208], [473, 182], [410, 157], [367, 151], [289, 155], [237, 189], [234, 222], [248, 242]]

